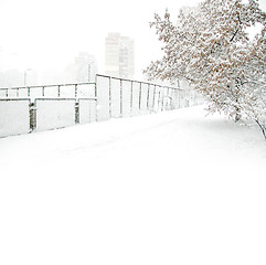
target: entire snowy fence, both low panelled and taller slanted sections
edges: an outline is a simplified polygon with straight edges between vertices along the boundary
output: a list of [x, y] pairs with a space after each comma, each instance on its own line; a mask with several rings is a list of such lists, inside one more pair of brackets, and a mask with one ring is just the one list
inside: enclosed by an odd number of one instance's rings
[[96, 83], [0, 88], [0, 137], [184, 106], [180, 88], [106, 75]]

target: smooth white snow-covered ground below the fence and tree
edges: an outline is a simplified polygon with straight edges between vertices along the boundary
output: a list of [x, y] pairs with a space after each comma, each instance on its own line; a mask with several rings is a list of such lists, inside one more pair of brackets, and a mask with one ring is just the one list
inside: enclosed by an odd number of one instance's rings
[[266, 142], [202, 107], [0, 139], [0, 264], [266, 263]]

